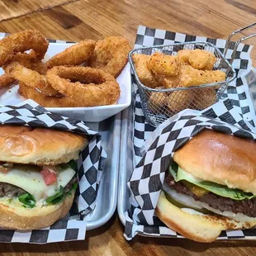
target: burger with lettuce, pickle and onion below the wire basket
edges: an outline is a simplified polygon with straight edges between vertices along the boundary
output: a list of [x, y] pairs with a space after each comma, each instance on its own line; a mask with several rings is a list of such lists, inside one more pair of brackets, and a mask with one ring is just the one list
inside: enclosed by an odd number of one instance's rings
[[203, 130], [173, 154], [156, 215], [199, 242], [256, 225], [256, 143]]

